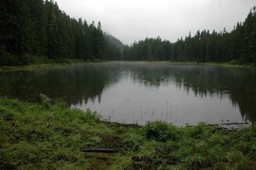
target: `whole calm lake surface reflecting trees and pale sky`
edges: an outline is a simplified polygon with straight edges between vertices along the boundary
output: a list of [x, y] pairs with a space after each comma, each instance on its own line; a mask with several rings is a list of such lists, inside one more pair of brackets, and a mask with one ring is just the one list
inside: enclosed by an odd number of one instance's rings
[[110, 121], [176, 126], [256, 121], [256, 69], [188, 64], [96, 63], [5, 71], [2, 95], [63, 98]]

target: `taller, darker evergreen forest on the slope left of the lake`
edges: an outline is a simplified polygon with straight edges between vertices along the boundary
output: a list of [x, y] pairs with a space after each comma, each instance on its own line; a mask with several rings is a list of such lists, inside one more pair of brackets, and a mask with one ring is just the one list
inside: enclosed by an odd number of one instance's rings
[[107, 61], [118, 53], [110, 48], [114, 45], [105, 38], [100, 21], [95, 26], [94, 21], [88, 25], [85, 19], [70, 18], [52, 0], [8, 0], [0, 5], [0, 65]]

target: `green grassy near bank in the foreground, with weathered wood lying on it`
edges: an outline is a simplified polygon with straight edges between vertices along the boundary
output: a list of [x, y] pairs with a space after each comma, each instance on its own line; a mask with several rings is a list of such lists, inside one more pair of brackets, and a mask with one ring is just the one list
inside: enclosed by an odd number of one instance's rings
[[[123, 127], [97, 112], [60, 102], [0, 98], [0, 169], [255, 169], [256, 125], [240, 131], [206, 126], [177, 128], [166, 122]], [[84, 147], [117, 153], [81, 152]], [[133, 156], [176, 164], [133, 160]]]

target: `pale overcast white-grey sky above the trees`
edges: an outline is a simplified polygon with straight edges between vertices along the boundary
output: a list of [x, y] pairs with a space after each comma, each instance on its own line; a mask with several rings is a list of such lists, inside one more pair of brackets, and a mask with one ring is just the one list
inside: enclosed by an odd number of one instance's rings
[[[55, 2], [55, 0], [54, 0]], [[176, 42], [194, 36], [199, 29], [230, 32], [237, 21], [244, 21], [255, 0], [56, 0], [60, 10], [71, 18], [100, 21], [124, 44], [147, 36]]]

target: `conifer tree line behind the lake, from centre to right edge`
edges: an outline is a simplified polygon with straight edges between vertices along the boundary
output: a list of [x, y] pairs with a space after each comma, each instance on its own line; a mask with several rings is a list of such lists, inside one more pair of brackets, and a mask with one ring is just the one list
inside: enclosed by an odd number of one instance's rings
[[230, 62], [246, 64], [256, 62], [256, 7], [254, 6], [243, 23], [237, 22], [231, 32], [198, 30], [195, 36], [181, 37], [176, 42], [146, 38], [126, 45], [123, 60], [172, 61], [172, 62]]

